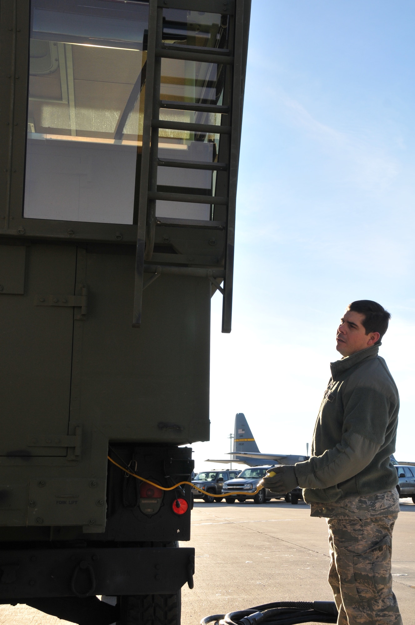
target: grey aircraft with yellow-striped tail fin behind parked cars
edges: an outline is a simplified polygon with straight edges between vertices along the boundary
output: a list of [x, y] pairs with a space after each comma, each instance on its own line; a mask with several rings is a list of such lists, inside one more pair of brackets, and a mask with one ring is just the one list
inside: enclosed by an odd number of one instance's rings
[[226, 460], [207, 458], [205, 462], [235, 462], [256, 467], [268, 464], [264, 461], [271, 461], [269, 464], [272, 464], [272, 462], [274, 464], [295, 464], [308, 459], [308, 456], [292, 454], [261, 454], [243, 412], [237, 412], [235, 416], [233, 451], [228, 452], [226, 455], [231, 457]]

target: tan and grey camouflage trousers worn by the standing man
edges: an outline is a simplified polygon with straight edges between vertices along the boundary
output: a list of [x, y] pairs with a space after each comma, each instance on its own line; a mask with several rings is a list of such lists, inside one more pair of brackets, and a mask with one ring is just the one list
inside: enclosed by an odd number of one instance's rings
[[391, 576], [396, 518], [327, 519], [337, 625], [402, 625]]

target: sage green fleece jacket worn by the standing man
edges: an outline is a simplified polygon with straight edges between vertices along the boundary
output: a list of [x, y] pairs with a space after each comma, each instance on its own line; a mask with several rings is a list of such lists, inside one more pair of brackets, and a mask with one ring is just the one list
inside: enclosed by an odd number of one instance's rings
[[[380, 344], [380, 343], [379, 343]], [[397, 484], [399, 394], [379, 344], [331, 362], [311, 457], [294, 471], [307, 502], [389, 491]]]

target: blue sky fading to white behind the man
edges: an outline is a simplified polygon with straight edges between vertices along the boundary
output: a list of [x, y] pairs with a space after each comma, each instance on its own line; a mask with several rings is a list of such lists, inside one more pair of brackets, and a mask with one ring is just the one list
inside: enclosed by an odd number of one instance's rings
[[212, 299], [211, 442], [236, 412], [261, 451], [304, 453], [336, 327], [354, 299], [392, 314], [380, 350], [415, 461], [415, 3], [253, 0], [232, 333]]

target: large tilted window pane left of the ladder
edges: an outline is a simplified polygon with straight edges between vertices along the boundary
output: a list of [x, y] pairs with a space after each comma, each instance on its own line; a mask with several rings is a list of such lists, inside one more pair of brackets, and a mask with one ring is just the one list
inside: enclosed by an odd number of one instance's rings
[[24, 217], [133, 223], [148, 4], [32, 0]]

